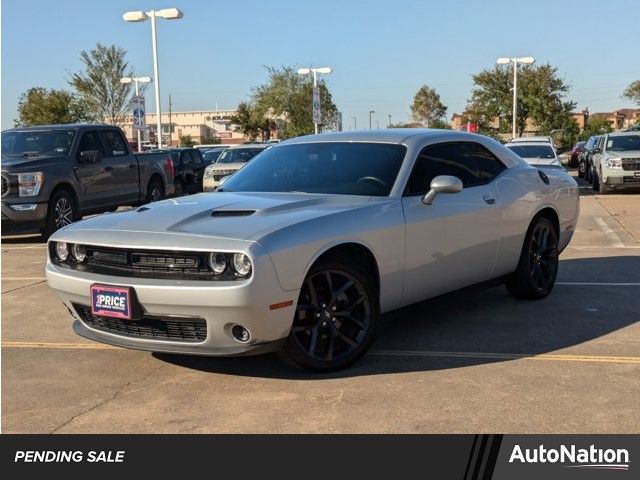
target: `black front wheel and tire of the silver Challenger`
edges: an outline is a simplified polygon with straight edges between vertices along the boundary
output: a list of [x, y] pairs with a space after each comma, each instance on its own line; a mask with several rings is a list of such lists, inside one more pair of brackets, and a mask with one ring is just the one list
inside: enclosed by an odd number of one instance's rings
[[371, 276], [346, 259], [311, 268], [281, 355], [312, 371], [340, 370], [371, 346], [380, 317]]

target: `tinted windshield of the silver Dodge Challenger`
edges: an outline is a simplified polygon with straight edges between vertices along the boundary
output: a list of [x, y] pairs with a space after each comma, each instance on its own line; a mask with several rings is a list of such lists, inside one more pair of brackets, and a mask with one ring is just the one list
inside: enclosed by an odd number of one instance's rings
[[230, 177], [223, 190], [387, 196], [406, 151], [384, 143], [273, 147]]

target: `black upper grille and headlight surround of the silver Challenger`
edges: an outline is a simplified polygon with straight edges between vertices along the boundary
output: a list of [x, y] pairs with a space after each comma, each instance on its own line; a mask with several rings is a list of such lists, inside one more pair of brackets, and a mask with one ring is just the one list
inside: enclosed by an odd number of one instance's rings
[[60, 263], [56, 260], [53, 243], [49, 248], [51, 261], [56, 265], [83, 272], [169, 280], [241, 280], [229, 268], [221, 275], [214, 275], [209, 269], [208, 252], [130, 250], [87, 245], [85, 262]]

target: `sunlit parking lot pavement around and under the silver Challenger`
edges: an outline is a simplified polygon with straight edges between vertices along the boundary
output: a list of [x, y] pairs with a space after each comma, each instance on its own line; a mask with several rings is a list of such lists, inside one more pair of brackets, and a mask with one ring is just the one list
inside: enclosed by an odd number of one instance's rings
[[3, 237], [3, 431], [638, 433], [640, 195], [581, 192], [547, 299], [494, 288], [394, 312], [331, 375], [90, 343], [47, 288], [38, 237]]

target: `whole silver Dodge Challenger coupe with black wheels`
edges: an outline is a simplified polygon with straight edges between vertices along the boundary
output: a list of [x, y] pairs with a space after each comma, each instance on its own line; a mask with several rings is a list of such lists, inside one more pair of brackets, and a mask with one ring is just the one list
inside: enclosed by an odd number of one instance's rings
[[481, 135], [322, 134], [274, 145], [215, 193], [59, 230], [46, 274], [83, 337], [277, 350], [328, 371], [361, 357], [390, 310], [496, 281], [544, 298], [578, 210], [562, 168]]

